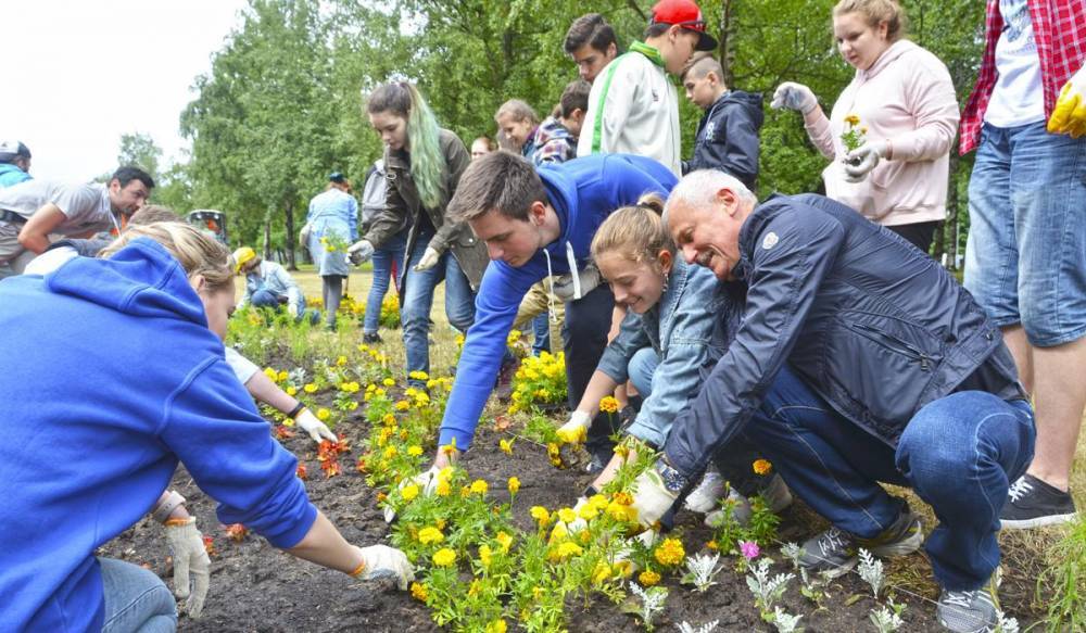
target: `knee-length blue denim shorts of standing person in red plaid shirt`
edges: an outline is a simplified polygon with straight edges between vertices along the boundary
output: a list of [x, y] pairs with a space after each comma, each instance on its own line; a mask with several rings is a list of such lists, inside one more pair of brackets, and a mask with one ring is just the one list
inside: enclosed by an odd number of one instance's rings
[[1086, 139], [984, 125], [969, 182], [965, 288], [1050, 347], [1086, 336]]

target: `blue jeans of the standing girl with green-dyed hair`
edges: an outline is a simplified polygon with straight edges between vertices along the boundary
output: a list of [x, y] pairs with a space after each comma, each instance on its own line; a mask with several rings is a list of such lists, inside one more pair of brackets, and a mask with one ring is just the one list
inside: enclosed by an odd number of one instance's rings
[[[404, 327], [408, 374], [430, 372], [430, 308], [433, 307], [433, 291], [439, 283], [445, 282], [445, 316], [449, 322], [462, 332], [475, 322], [475, 292], [452, 253], [446, 251], [429, 270], [415, 270], [432, 237], [432, 233], [418, 237], [404, 281], [406, 288], [400, 320]], [[418, 384], [418, 381], [408, 382]]]

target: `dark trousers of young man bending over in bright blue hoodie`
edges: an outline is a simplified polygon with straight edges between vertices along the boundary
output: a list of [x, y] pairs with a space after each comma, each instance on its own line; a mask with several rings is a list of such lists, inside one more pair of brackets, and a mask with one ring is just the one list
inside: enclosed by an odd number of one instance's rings
[[[569, 389], [569, 408], [576, 409], [607, 347], [615, 295], [607, 284], [597, 286], [592, 292], [566, 304], [566, 322], [561, 336], [566, 351], [566, 381]], [[614, 422], [611, 418], [615, 418]], [[601, 414], [592, 420], [584, 443], [593, 455], [604, 461], [610, 459], [615, 444], [610, 435], [618, 430], [619, 416]]]

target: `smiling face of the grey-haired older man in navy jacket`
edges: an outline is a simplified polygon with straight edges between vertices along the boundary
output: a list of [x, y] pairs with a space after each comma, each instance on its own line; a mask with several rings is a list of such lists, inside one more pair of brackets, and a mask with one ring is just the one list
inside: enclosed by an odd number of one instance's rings
[[668, 230], [687, 264], [704, 266], [717, 279], [734, 279], [732, 269], [740, 261], [740, 201], [722, 189], [712, 204], [691, 207], [682, 201], [668, 207]]

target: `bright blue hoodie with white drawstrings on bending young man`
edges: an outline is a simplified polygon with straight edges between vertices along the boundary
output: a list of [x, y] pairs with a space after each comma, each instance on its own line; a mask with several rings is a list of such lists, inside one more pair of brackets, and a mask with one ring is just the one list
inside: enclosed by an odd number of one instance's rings
[[[667, 195], [675, 185], [670, 169], [652, 159], [629, 154], [592, 154], [568, 163], [539, 168], [547, 202], [558, 215], [558, 239], [520, 267], [491, 262], [476, 296], [476, 318], [468, 330], [456, 368], [456, 382], [441, 420], [441, 445], [456, 441], [464, 451], [471, 445], [476, 425], [494, 389], [494, 377], [505, 352], [505, 338], [517, 308], [533, 283], [548, 275], [569, 273], [567, 244], [577, 267], [589, 264], [589, 248], [596, 229], [615, 210], [635, 204], [644, 193]], [[551, 267], [547, 269], [547, 255]]]

